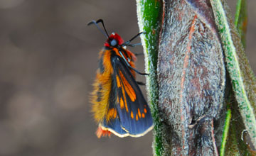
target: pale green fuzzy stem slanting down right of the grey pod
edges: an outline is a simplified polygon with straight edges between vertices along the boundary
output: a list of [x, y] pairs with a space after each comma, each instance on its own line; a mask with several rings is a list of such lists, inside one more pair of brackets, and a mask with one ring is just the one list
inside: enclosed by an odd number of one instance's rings
[[[210, 0], [210, 3], [213, 7], [215, 23], [218, 26], [220, 39], [223, 44], [225, 61], [227, 62], [227, 69], [230, 74], [235, 99], [238, 101], [239, 111], [242, 116], [243, 123], [245, 124], [245, 128], [250, 135], [250, 140], [256, 147], [256, 120], [252, 105], [247, 97], [245, 83], [243, 82], [243, 71], [240, 69], [238, 54], [233, 43], [233, 35], [230, 32], [229, 24], [232, 23], [228, 23], [228, 17], [223, 9], [222, 1]], [[242, 52], [244, 52], [243, 49]]]

